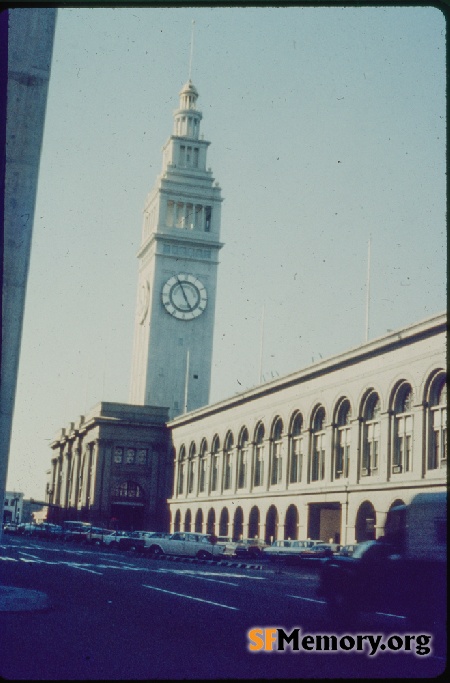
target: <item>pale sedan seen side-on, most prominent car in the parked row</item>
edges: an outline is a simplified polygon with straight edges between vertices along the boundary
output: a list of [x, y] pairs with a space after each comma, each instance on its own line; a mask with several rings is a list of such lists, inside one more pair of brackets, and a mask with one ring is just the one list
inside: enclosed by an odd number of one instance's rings
[[155, 538], [148, 549], [149, 554], [153, 557], [158, 555], [179, 555], [198, 557], [200, 560], [223, 557], [224, 551], [225, 544], [217, 543], [215, 536], [187, 531], [177, 531], [168, 538]]

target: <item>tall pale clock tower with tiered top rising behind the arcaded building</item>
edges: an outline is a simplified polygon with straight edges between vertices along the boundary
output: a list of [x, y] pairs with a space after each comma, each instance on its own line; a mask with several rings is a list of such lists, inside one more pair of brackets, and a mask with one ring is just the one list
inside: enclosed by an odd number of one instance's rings
[[170, 418], [208, 404], [221, 190], [206, 166], [198, 92], [189, 80], [144, 206], [130, 402]]

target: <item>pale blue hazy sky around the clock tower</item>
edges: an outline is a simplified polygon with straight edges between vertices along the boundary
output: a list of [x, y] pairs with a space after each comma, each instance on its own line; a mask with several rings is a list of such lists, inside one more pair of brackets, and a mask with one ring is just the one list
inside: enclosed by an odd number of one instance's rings
[[[8, 490], [127, 401], [142, 209], [192, 80], [224, 197], [211, 401], [446, 309], [434, 7], [59, 9]], [[230, 305], [232, 302], [232, 305]]]

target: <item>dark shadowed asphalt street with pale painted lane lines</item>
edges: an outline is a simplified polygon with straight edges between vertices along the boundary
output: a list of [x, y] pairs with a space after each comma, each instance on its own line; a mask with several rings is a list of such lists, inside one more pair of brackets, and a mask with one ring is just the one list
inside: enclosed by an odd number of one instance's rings
[[[329, 622], [312, 567], [152, 560], [4, 537], [0, 572], [7, 680], [429, 678], [445, 668], [442, 652], [250, 652], [253, 628], [356, 633]], [[14, 609], [12, 588], [40, 601]], [[401, 617], [367, 618], [361, 633], [405, 634]]]

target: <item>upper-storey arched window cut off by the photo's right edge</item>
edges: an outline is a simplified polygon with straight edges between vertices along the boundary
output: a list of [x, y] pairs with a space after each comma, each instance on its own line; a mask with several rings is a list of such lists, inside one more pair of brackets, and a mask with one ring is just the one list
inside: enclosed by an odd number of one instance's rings
[[430, 395], [428, 469], [447, 466], [447, 383], [444, 375], [434, 381]]

